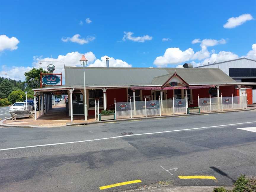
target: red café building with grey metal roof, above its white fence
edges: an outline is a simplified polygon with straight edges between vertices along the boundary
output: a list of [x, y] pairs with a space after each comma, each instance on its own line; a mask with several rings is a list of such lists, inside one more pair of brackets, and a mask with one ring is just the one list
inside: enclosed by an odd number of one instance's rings
[[[41, 98], [62, 91], [68, 94], [69, 115], [95, 115], [95, 99], [99, 108], [114, 109], [118, 102], [186, 99], [187, 107], [197, 107], [200, 98], [233, 97], [247, 93], [251, 104], [251, 88], [256, 83], [236, 82], [218, 68], [85, 68], [86, 103], [82, 67], [65, 67], [65, 85], [34, 89]], [[244, 94], [245, 95], [245, 94]], [[199, 100], [198, 100], [199, 97]], [[46, 101], [47, 98], [44, 98]], [[229, 99], [230, 100], [230, 99]], [[168, 102], [168, 101], [167, 101]], [[49, 102], [48, 102], [49, 103]]]

